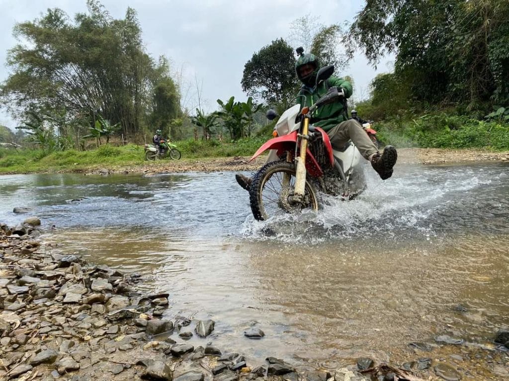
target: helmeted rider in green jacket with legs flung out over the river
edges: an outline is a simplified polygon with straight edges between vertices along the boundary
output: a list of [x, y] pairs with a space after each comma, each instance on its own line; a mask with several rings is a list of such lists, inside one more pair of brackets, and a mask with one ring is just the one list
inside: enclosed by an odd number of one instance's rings
[[[332, 148], [335, 150], [342, 149], [352, 140], [360, 154], [370, 161], [371, 166], [382, 180], [388, 179], [392, 176], [392, 167], [396, 164], [398, 153], [390, 145], [385, 147], [383, 153], [380, 153], [359, 122], [348, 118], [346, 99], [352, 95], [350, 82], [332, 75], [316, 85], [320, 69], [318, 57], [310, 53], [303, 54], [303, 51], [299, 51], [299, 49], [297, 52], [299, 57], [295, 62], [295, 72], [303, 83], [297, 96], [301, 108], [315, 104], [333, 86], [336, 86], [338, 90], [343, 90], [345, 94], [343, 102], [330, 103], [317, 109], [311, 120], [313, 125], [327, 132]], [[249, 190], [251, 187], [252, 178], [237, 173], [235, 179], [244, 189]]]

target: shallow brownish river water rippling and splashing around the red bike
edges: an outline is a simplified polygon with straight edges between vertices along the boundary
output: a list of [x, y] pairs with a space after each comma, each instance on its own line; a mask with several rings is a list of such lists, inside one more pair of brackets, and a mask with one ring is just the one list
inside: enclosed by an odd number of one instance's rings
[[398, 362], [444, 334], [493, 347], [509, 322], [509, 166], [401, 166], [324, 204], [258, 223], [229, 172], [0, 177], [0, 221], [32, 207], [55, 226], [45, 240], [142, 273], [170, 293], [168, 317], [215, 320], [211, 341], [252, 360]]

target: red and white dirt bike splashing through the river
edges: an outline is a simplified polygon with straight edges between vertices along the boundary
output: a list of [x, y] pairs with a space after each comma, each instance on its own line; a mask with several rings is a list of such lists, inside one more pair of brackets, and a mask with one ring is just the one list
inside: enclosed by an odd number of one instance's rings
[[[333, 66], [320, 69], [317, 84], [334, 72]], [[332, 149], [329, 136], [310, 125], [312, 113], [319, 107], [344, 99], [343, 91], [331, 87], [312, 107], [295, 105], [277, 121], [274, 136], [251, 157], [272, 150], [269, 159], [253, 177], [249, 202], [254, 218], [272, 216], [302, 209], [318, 210], [318, 192], [351, 200], [365, 188], [361, 155], [353, 142], [341, 150]], [[274, 119], [273, 110], [267, 118]]]

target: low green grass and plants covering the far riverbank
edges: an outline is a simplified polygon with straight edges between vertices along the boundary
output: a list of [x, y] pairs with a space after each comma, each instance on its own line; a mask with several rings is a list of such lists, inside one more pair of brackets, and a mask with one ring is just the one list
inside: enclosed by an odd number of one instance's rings
[[[415, 117], [393, 117], [375, 123], [379, 139], [396, 147], [482, 148], [509, 150], [509, 124], [479, 121], [461, 115], [437, 112]], [[205, 157], [252, 155], [270, 136], [240, 139], [233, 143], [217, 140], [174, 142], [182, 160]], [[145, 164], [142, 145], [102, 145], [89, 151], [0, 148], [0, 174], [29, 172], [78, 172], [98, 168], [119, 168]]]

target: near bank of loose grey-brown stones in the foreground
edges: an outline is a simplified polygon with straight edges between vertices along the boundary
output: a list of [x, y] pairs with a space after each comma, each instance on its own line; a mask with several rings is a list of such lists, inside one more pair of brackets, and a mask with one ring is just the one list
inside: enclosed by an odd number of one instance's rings
[[[309, 370], [276, 357], [256, 366], [242, 354], [214, 346], [214, 321], [181, 315], [165, 319], [168, 294], [138, 292], [143, 279], [137, 274], [86, 263], [74, 253], [56, 253], [41, 244], [39, 224], [37, 217], [15, 228], [0, 224], [0, 379], [413, 381], [509, 376], [505, 330], [495, 338], [498, 345], [489, 348], [448, 335], [432, 344], [410, 343], [408, 361], [401, 366], [359, 358], [357, 365]], [[264, 333], [256, 329], [244, 335], [263, 340]], [[203, 344], [189, 345], [192, 336]]]

